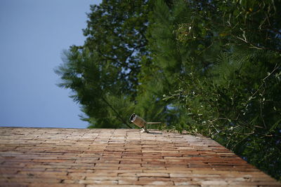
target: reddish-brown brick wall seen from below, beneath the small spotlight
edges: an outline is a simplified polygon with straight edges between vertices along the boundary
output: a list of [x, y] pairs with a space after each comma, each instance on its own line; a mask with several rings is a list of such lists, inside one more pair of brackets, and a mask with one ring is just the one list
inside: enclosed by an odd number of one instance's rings
[[207, 137], [0, 127], [0, 186], [281, 186]]

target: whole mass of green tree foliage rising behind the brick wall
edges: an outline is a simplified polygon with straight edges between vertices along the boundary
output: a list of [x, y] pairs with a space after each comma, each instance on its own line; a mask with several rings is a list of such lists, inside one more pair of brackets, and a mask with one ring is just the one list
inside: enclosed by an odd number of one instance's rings
[[89, 127], [201, 133], [281, 176], [281, 1], [107, 0], [56, 69]]

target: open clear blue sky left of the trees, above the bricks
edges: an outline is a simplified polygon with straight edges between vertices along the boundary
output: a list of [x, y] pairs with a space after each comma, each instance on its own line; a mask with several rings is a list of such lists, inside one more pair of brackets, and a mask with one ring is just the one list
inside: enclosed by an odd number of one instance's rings
[[100, 1], [0, 0], [0, 126], [87, 127], [53, 69]]

